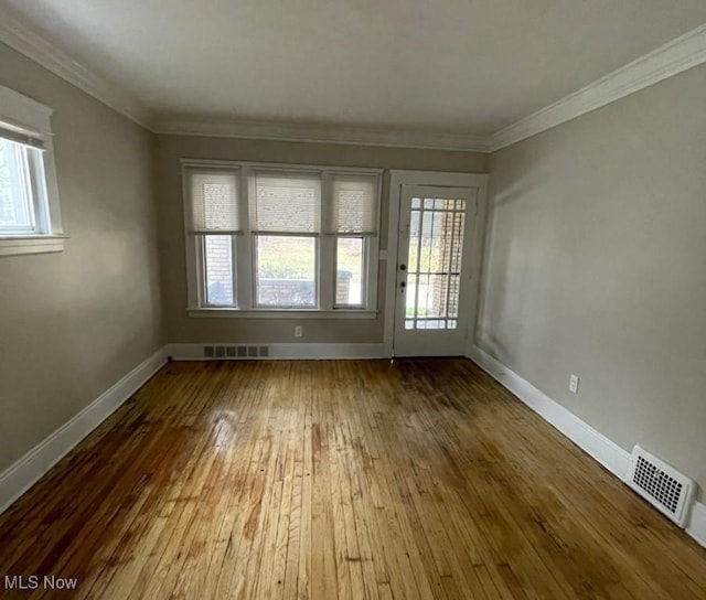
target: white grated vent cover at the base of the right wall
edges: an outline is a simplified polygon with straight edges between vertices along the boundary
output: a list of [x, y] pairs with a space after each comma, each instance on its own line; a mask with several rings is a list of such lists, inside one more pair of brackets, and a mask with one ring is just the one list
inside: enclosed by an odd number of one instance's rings
[[628, 485], [681, 527], [686, 525], [696, 484], [639, 446], [632, 450]]

